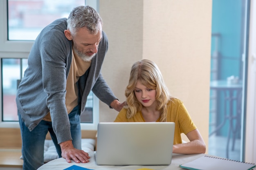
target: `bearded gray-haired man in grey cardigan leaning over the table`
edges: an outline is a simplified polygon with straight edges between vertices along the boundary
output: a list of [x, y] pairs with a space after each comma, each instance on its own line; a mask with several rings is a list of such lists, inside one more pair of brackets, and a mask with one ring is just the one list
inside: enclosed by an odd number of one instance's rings
[[92, 90], [117, 111], [124, 106], [101, 75], [107, 50], [101, 17], [88, 6], [74, 8], [68, 19], [55, 20], [38, 35], [16, 97], [23, 169], [43, 165], [48, 131], [59, 157], [89, 162], [88, 153], [81, 150], [80, 127], [88, 94]]

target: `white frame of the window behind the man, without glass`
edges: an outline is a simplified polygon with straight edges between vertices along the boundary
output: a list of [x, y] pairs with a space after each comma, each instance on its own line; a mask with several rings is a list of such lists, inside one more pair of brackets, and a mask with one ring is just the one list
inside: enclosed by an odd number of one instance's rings
[[[1, 58], [27, 58], [34, 41], [9, 41], [8, 40], [8, 22], [7, 22], [7, 1], [0, 1], [0, 59]], [[90, 5], [98, 10], [99, 0], [85, 0], [86, 5]], [[0, 128], [20, 128], [18, 121], [2, 121], [2, 63], [0, 60]], [[15, 103], [16, 106], [16, 103]], [[99, 123], [99, 99], [93, 94], [93, 114], [92, 123], [81, 123], [81, 130], [97, 130]]]

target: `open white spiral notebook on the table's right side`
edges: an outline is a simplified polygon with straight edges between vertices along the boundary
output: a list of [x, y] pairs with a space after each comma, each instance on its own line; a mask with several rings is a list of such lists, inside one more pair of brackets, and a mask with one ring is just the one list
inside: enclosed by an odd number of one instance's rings
[[251, 170], [255, 168], [255, 163], [203, 156], [194, 161], [184, 163], [180, 167], [189, 170]]

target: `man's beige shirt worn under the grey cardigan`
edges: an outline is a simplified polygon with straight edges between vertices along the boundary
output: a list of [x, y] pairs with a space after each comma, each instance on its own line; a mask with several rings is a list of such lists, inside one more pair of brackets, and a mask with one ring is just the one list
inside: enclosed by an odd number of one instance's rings
[[[66, 86], [66, 108], [69, 114], [74, 107], [78, 104], [78, 88], [76, 82], [79, 77], [84, 75], [84, 73], [90, 67], [91, 62], [85, 62], [80, 57], [74, 55], [72, 51], [72, 63], [70, 66], [70, 72], [67, 76], [67, 86]], [[48, 113], [43, 120], [52, 121], [50, 113]]]

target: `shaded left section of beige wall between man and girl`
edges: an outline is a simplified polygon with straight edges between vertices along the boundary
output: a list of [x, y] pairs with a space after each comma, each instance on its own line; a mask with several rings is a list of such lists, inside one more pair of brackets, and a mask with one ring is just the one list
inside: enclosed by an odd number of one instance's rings
[[[143, 0], [100, 0], [99, 13], [109, 49], [102, 74], [120, 102], [125, 100], [132, 64], [143, 56]], [[100, 121], [114, 121], [117, 111], [100, 103]]]

